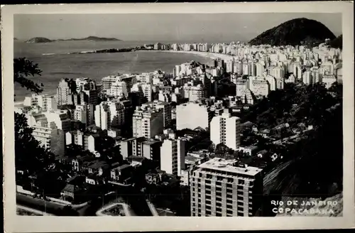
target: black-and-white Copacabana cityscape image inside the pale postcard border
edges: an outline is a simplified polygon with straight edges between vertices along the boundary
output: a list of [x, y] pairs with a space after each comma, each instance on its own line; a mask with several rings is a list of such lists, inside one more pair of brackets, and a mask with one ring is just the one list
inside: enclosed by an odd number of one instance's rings
[[343, 24], [317, 11], [14, 13], [16, 215], [344, 217]]

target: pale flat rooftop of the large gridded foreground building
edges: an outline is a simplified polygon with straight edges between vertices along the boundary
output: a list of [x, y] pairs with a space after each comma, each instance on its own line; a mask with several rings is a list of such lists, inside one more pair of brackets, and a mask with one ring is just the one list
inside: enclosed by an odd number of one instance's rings
[[244, 174], [254, 176], [261, 172], [261, 168], [246, 166], [239, 167], [234, 166], [236, 164], [236, 160], [226, 160], [224, 158], [212, 158], [211, 160], [202, 163], [199, 168], [205, 168], [210, 170], [228, 172], [228, 173], [236, 173], [236, 174]]

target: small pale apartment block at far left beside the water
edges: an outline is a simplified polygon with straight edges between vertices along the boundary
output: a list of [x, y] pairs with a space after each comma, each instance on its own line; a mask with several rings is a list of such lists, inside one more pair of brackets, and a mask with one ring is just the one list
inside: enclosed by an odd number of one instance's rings
[[38, 112], [57, 110], [55, 97], [48, 94], [32, 94], [31, 97], [25, 97], [23, 106], [32, 107], [37, 109]]

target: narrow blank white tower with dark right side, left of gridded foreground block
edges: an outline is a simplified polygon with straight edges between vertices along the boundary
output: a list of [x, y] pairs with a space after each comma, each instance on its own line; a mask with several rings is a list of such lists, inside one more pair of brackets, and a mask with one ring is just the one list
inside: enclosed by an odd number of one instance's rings
[[160, 170], [168, 174], [181, 175], [185, 169], [185, 141], [168, 138], [160, 147]]

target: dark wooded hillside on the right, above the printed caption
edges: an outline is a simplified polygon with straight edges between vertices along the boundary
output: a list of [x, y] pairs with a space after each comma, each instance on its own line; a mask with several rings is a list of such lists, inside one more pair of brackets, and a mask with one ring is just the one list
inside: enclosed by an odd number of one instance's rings
[[278, 185], [275, 193], [280, 196], [308, 193], [309, 197], [325, 198], [342, 191], [342, 85], [336, 82], [327, 90], [320, 83], [308, 86], [288, 83], [283, 90], [275, 90], [254, 104], [241, 117], [242, 122], [256, 124], [258, 131], [273, 131], [275, 126], [286, 123], [288, 129], [300, 124], [312, 128], [286, 146], [263, 142], [267, 150], [294, 161], [283, 175], [289, 179]]

